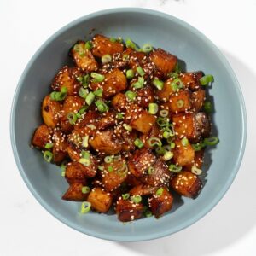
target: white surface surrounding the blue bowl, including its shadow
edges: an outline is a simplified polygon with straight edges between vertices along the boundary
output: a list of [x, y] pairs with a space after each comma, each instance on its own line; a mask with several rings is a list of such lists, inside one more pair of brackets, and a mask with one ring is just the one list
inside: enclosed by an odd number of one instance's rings
[[[80, 234], [46, 212], [21, 179], [9, 140], [9, 113], [15, 87], [38, 47], [71, 20], [96, 10], [125, 6], [158, 9], [177, 16], [217, 44], [241, 83], [248, 119], [247, 149], [240, 171], [218, 206], [177, 234], [132, 243], [102, 241]], [[0, 28], [1, 256], [256, 255], [255, 0], [1, 0]]]

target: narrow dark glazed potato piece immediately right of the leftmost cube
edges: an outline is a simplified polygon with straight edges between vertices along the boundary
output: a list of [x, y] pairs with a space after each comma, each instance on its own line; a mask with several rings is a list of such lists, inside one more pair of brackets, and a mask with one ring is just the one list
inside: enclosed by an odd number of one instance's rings
[[55, 164], [60, 165], [67, 156], [67, 136], [61, 131], [55, 131], [53, 139], [53, 160]]

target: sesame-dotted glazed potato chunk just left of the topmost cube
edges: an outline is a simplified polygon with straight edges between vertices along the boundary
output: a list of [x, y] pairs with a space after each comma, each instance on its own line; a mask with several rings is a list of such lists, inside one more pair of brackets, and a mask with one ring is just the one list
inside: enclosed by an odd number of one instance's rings
[[89, 49], [85, 48], [85, 42], [77, 42], [70, 51], [76, 65], [86, 72], [96, 71], [98, 64]]

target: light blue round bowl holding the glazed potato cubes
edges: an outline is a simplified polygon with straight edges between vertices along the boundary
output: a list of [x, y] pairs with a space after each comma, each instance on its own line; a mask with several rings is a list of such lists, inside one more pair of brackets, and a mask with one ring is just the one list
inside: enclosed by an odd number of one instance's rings
[[[213, 124], [220, 143], [207, 152], [210, 168], [196, 200], [183, 198], [162, 218], [143, 218], [122, 224], [116, 215], [90, 212], [80, 215], [79, 203], [62, 201], [67, 182], [60, 168], [49, 165], [30, 148], [34, 129], [42, 123], [40, 102], [49, 92], [55, 73], [69, 61], [68, 49], [89, 37], [92, 29], [107, 36], [132, 38], [177, 55], [188, 71], [211, 73], [215, 82]], [[84, 16], [61, 28], [33, 55], [20, 78], [11, 113], [11, 141], [15, 160], [32, 195], [61, 222], [90, 236], [114, 241], [143, 241], [167, 236], [202, 218], [229, 189], [241, 164], [246, 143], [246, 111], [241, 90], [224, 55], [201, 32], [171, 15], [148, 9], [109, 9]], [[206, 171], [207, 170], [207, 171]]]

